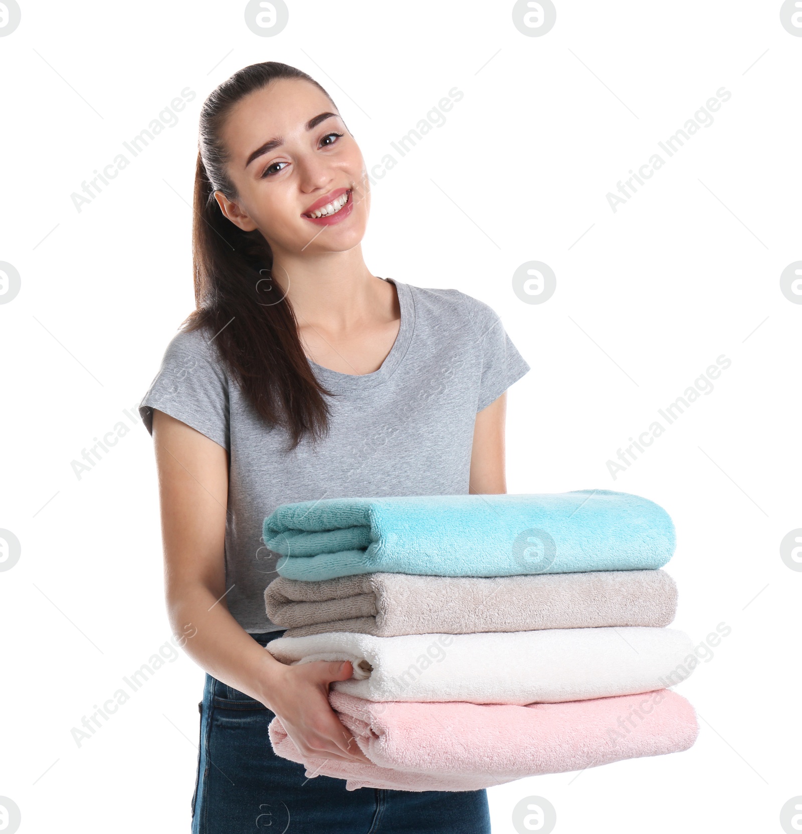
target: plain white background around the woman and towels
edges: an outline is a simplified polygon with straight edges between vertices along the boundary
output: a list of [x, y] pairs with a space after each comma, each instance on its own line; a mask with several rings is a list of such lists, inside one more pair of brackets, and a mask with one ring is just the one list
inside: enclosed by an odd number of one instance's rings
[[[71, 736], [169, 640], [149, 435], [132, 428], [80, 480], [71, 461], [126, 420], [193, 308], [199, 106], [264, 60], [318, 79], [369, 165], [462, 90], [376, 183], [369, 268], [491, 304], [532, 365], [509, 394], [509, 491], [657, 501], [678, 531], [675, 627], [696, 643], [732, 629], [678, 686], [693, 748], [494, 788], [493, 831], [530, 795], [558, 834], [782, 831], [802, 794], [802, 573], [779, 556], [802, 527], [802, 305], [779, 289], [802, 259], [802, 38], [779, 7], [558, 0], [530, 38], [510, 2], [295, 0], [260, 38], [241, 2], [23, 3], [0, 38], [0, 260], [22, 279], [0, 305], [0, 528], [22, 543], [0, 572], [0, 795], [20, 831], [189, 830], [203, 674], [188, 656]], [[179, 123], [78, 212], [82, 181], [186, 87]], [[721, 87], [714, 123], [613, 212], [607, 193]], [[557, 275], [544, 304], [512, 291], [529, 260]], [[712, 393], [613, 480], [607, 461], [720, 354]]]

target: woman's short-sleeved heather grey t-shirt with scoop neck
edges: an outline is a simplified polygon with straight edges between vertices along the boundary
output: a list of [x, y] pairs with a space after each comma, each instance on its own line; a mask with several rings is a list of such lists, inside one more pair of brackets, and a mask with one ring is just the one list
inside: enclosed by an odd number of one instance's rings
[[225, 600], [245, 631], [279, 628], [265, 615], [279, 558], [261, 540], [265, 515], [324, 498], [466, 495], [477, 411], [529, 370], [487, 304], [387, 280], [401, 324], [381, 368], [340, 374], [310, 361], [336, 394], [316, 448], [301, 440], [286, 452], [285, 431], [260, 419], [203, 330], [174, 336], [139, 404], [149, 432], [159, 409], [229, 452]]

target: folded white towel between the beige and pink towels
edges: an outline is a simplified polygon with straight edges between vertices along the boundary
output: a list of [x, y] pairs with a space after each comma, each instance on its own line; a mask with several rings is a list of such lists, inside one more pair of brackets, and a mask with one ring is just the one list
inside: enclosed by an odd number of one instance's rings
[[694, 652], [682, 631], [642, 625], [398, 637], [343, 631], [280, 637], [266, 648], [283, 663], [351, 661], [354, 675], [331, 688], [368, 701], [477, 704], [663, 689], [689, 675], [683, 661]]

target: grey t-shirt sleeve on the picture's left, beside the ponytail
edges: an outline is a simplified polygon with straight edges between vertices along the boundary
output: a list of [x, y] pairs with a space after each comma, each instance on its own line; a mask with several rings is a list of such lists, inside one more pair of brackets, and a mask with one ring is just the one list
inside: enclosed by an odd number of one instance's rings
[[164, 351], [159, 373], [139, 403], [151, 435], [154, 409], [230, 450], [229, 378], [203, 329], [179, 332]]

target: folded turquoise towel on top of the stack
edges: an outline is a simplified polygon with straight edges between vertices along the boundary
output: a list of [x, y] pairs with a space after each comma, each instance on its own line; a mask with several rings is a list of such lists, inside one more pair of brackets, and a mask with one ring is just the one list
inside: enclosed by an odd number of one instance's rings
[[638, 495], [420, 495], [330, 498], [278, 507], [265, 545], [288, 579], [374, 573], [510, 576], [660, 568], [673, 522]]

